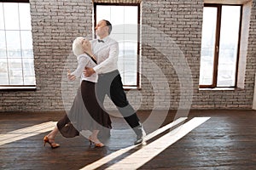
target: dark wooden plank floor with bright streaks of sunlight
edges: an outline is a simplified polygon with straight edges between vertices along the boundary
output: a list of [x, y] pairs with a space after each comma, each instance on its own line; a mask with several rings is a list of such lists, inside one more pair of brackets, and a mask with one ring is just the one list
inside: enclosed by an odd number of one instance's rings
[[[175, 113], [169, 111], [162, 128], [174, 121]], [[63, 114], [0, 114], [0, 169], [256, 169], [256, 111], [190, 111], [185, 122], [159, 133], [153, 125], [145, 126], [146, 132], [154, 135], [138, 146], [133, 146], [136, 136], [124, 120], [112, 117], [106, 147], [94, 148], [83, 136], [65, 139], [61, 134], [56, 137], [60, 148], [44, 147], [48, 125], [43, 130], [38, 127], [55, 123]], [[138, 112], [143, 122], [149, 114]], [[183, 135], [170, 133], [196, 117], [209, 119], [194, 128], [188, 124], [191, 129]], [[10, 134], [14, 136], [9, 138]]]

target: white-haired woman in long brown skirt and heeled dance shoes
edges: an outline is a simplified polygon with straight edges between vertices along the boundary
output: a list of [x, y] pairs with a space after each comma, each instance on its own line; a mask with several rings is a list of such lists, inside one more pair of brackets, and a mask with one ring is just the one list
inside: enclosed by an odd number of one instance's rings
[[79, 65], [72, 73], [68, 71], [67, 78], [73, 81], [76, 77], [81, 77], [82, 82], [68, 115], [57, 122], [56, 127], [44, 137], [44, 145], [48, 143], [53, 149], [60, 146], [60, 144], [55, 143], [55, 135], [59, 131], [62, 136], [72, 138], [78, 136], [82, 130], [90, 130], [92, 131], [89, 137], [90, 144], [93, 143], [96, 147], [102, 147], [104, 144], [98, 139], [98, 133], [104, 127], [111, 128], [108, 113], [103, 111], [97, 103], [95, 94], [96, 73], [90, 77], [84, 77], [82, 74], [85, 66], [96, 66], [96, 59], [84, 54], [82, 44], [86, 41], [84, 37], [77, 37], [73, 42], [73, 53], [77, 56]]

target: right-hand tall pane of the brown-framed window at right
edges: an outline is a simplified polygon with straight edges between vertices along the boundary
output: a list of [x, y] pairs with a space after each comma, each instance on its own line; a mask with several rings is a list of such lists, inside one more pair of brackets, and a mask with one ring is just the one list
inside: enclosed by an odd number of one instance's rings
[[218, 54], [218, 87], [235, 86], [240, 6], [223, 6]]

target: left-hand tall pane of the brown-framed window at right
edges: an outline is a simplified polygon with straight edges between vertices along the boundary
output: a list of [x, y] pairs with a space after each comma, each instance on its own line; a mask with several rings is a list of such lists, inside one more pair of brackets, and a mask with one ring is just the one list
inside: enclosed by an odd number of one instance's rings
[[212, 85], [217, 8], [205, 7], [201, 38], [200, 85]]

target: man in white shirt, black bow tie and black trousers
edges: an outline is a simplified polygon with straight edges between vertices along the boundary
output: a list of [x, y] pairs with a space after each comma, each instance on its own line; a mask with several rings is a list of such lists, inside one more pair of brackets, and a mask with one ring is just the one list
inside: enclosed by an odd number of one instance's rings
[[84, 42], [84, 52], [92, 58], [96, 58], [97, 65], [93, 68], [85, 68], [84, 76], [90, 77], [93, 73], [98, 74], [96, 83], [96, 95], [100, 105], [106, 94], [112, 99], [119, 112], [124, 116], [125, 121], [137, 134], [134, 144], [141, 144], [146, 135], [143, 125], [139, 122], [137, 113], [126, 99], [126, 94], [118, 71], [119, 44], [109, 37], [112, 25], [108, 20], [101, 20], [95, 27], [98, 39], [91, 42]]

